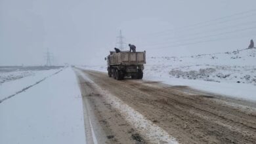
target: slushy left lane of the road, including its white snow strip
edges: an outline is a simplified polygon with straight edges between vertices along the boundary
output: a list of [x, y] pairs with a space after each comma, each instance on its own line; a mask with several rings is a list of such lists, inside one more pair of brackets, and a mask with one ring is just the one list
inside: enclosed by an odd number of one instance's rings
[[[88, 123], [85, 124], [87, 143], [143, 143], [142, 141], [144, 140], [136, 141], [135, 138], [131, 138], [135, 133], [132, 133], [131, 130], [126, 130], [127, 128], [124, 128], [124, 125], [133, 131], [136, 130], [140, 135], [145, 137], [146, 143], [178, 143], [174, 137], [154, 124], [154, 122], [148, 120], [138, 111], [135, 111], [135, 109], [127, 105], [127, 103], [104, 88], [100, 88], [84, 71], [75, 69], [75, 73], [77, 74], [83, 95], [85, 113], [87, 113], [85, 115], [85, 121]], [[101, 103], [97, 103], [96, 101], [101, 101]], [[103, 111], [104, 114], [99, 114], [100, 116], [95, 117], [95, 115], [98, 115], [98, 111], [95, 109], [100, 109], [99, 107], [102, 107], [102, 105], [111, 105], [111, 112], [108, 113], [108, 108], [105, 107], [105, 109], [100, 110]], [[113, 111], [113, 109], [115, 109], [115, 111]], [[114, 117], [111, 117], [111, 115], [114, 115]], [[122, 117], [121, 120], [117, 118], [117, 115]], [[107, 119], [102, 118], [106, 116], [108, 117]], [[91, 120], [92, 117], [93, 120]], [[104, 121], [104, 124], [96, 124], [96, 121]], [[110, 121], [115, 123], [114, 126], [110, 126]], [[121, 124], [118, 124], [118, 122], [121, 122]], [[108, 126], [106, 126], [106, 124], [108, 124]], [[101, 128], [99, 128], [99, 126]], [[140, 137], [138, 133], [136, 133], [136, 135]], [[114, 137], [114, 139], [106, 134], [112, 134], [111, 136]], [[106, 139], [106, 137], [108, 137], [108, 139]]]

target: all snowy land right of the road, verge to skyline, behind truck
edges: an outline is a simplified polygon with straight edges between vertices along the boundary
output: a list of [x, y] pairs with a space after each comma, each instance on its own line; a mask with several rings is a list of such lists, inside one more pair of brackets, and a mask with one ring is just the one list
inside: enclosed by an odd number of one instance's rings
[[[256, 101], [256, 48], [182, 57], [150, 57], [144, 80]], [[106, 71], [106, 65], [83, 66]]]

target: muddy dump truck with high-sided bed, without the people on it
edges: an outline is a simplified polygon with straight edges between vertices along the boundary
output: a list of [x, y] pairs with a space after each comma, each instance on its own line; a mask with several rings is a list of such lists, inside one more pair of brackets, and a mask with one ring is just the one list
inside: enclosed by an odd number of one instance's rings
[[132, 79], [143, 78], [146, 51], [110, 51], [105, 60], [108, 62], [108, 77], [113, 77], [117, 80], [123, 80], [124, 77], [131, 77]]

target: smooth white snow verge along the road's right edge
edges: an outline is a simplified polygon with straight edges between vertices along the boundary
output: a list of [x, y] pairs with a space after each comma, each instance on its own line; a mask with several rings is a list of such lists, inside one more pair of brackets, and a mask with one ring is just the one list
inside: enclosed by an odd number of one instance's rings
[[145, 75], [143, 79], [148, 81], [160, 81], [173, 86], [190, 86], [191, 88], [205, 92], [212, 92], [214, 94], [221, 94], [230, 98], [245, 99], [256, 102], [256, 88], [251, 84], [154, 77], [152, 75]]

